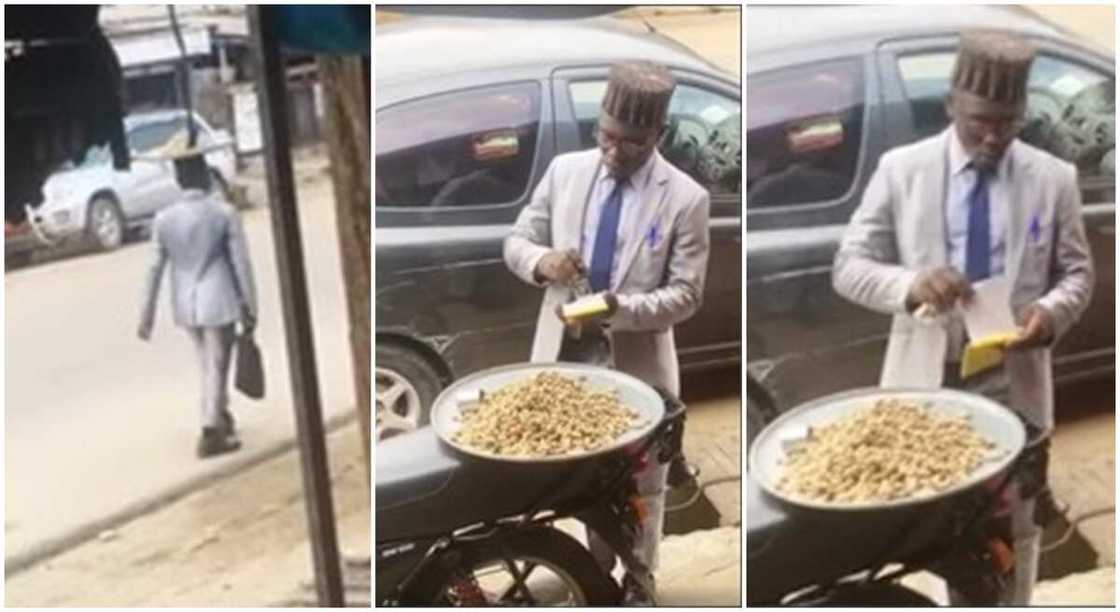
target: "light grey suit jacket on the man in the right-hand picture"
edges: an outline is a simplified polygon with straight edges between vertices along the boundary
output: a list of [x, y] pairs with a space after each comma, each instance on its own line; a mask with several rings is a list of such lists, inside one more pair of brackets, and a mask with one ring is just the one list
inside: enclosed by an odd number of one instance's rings
[[[952, 127], [949, 128], [953, 129]], [[906, 294], [920, 270], [949, 265], [945, 239], [948, 130], [890, 150], [879, 159], [848, 225], [832, 268], [846, 298], [894, 315], [880, 384], [895, 386], [907, 364], [946, 347], [945, 328], [907, 314]], [[1015, 314], [1037, 303], [1054, 317], [1061, 336], [1081, 316], [1093, 289], [1093, 263], [1081, 216], [1077, 171], [1072, 165], [1016, 140], [1011, 156], [1006, 273]], [[1048, 347], [1007, 355], [1011, 408], [1053, 427]], [[941, 384], [941, 368], [930, 380]]]

